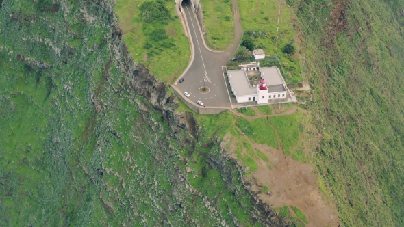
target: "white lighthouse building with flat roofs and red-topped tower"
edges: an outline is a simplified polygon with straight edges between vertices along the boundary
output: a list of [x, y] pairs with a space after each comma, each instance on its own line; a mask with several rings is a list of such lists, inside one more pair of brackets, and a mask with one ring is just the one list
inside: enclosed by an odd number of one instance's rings
[[227, 71], [237, 103], [286, 101], [286, 84], [276, 66], [260, 68], [260, 64], [249, 64], [240, 67], [241, 70]]

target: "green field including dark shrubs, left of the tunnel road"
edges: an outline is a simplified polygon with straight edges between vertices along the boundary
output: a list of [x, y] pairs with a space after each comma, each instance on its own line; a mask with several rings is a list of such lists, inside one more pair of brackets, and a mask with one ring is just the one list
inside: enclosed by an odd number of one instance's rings
[[[119, 0], [114, 11], [123, 31], [123, 39], [134, 61], [150, 68], [151, 72], [162, 81], [173, 83], [188, 65], [190, 44], [184, 35], [173, 1], [160, 1], [168, 10], [169, 18], [160, 17], [151, 22], [144, 19], [140, 10], [141, 5], [147, 2], [157, 1]], [[157, 6], [153, 9], [157, 9]], [[151, 10], [150, 14], [160, 15], [162, 12], [164, 10]], [[156, 38], [153, 31], [157, 29], [164, 29], [166, 38], [163, 37], [162, 40]]]

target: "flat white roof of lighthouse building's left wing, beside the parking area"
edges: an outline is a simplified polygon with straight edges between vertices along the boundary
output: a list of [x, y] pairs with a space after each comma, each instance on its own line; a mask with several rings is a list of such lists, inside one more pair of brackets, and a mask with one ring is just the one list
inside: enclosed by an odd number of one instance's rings
[[248, 96], [257, 94], [257, 87], [250, 88], [250, 82], [245, 75], [244, 70], [227, 71], [231, 75], [231, 86], [236, 90], [237, 96]]

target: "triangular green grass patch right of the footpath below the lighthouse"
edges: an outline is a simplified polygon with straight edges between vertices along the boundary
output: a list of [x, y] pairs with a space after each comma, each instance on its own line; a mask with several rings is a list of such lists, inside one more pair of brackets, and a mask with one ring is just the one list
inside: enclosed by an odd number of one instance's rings
[[279, 137], [281, 137], [283, 151], [290, 153], [299, 141], [303, 113], [296, 111], [296, 113], [290, 115], [273, 116], [268, 120], [278, 131]]

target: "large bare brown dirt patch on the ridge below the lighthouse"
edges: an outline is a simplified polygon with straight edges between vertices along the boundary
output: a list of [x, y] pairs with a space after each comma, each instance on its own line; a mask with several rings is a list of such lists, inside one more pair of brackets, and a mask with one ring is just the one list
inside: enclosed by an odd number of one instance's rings
[[[338, 226], [340, 223], [335, 205], [323, 198], [316, 183], [318, 175], [314, 167], [285, 156], [282, 150], [262, 150], [270, 159], [272, 169], [261, 165], [253, 174], [257, 185], [268, 185], [269, 193], [259, 197], [268, 204], [297, 206], [305, 213], [309, 223], [306, 226]], [[260, 189], [256, 189], [259, 191]]]

